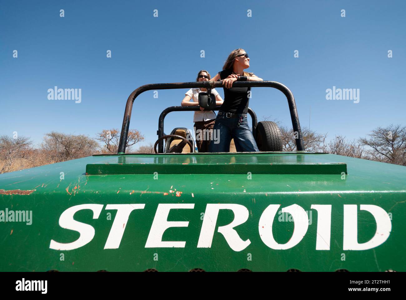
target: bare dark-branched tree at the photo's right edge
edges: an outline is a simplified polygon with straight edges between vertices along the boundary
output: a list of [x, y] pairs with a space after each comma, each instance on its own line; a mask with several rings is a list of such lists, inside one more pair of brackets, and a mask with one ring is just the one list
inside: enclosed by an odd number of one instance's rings
[[406, 165], [406, 126], [379, 126], [360, 143], [369, 147], [368, 153], [375, 161]]

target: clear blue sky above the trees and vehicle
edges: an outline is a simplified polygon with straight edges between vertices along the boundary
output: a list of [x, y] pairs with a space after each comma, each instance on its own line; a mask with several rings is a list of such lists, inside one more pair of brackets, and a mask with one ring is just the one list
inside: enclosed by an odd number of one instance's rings
[[[302, 127], [311, 106], [311, 129], [329, 139], [364, 137], [377, 126], [405, 124], [405, 8], [390, 0], [2, 1], [0, 135], [17, 131], [41, 143], [52, 130], [95, 137], [121, 129], [127, 97], [140, 85], [194, 81], [201, 69], [214, 76], [233, 49], [244, 48], [247, 71], [291, 89]], [[54, 86], [82, 89], [82, 102], [48, 100]], [[333, 86], [360, 89], [359, 103], [326, 100]], [[186, 91], [136, 99], [130, 128], [145, 135], [139, 145], [157, 139], [158, 116]], [[259, 120], [291, 124], [280, 91], [255, 88], [252, 96]], [[192, 112], [170, 113], [165, 132], [192, 128], [192, 119]]]

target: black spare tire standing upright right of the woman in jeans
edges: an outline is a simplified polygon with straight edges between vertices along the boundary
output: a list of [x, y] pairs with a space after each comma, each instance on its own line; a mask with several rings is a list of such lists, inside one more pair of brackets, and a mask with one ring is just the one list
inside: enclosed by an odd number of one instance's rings
[[255, 132], [259, 151], [282, 151], [282, 134], [276, 123], [271, 121], [259, 122]]

